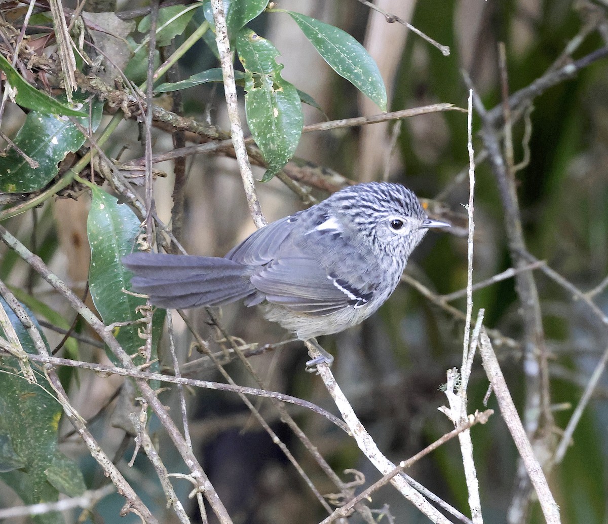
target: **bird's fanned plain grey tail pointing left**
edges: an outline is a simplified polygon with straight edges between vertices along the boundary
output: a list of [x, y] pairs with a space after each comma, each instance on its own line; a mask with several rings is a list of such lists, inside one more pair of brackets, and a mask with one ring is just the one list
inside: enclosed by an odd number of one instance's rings
[[220, 306], [255, 292], [250, 269], [227, 258], [131, 253], [122, 262], [133, 291], [162, 308]]

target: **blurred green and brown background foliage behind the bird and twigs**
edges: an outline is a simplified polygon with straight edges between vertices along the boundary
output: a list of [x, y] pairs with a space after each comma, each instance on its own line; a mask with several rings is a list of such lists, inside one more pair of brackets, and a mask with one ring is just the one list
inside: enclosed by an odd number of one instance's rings
[[[528, 86], [551, 67], [562, 66], [608, 45], [608, 5], [603, 0], [385, 2], [384, 9], [410, 19], [413, 26], [449, 46], [448, 57], [399, 24], [385, 24], [378, 13], [370, 16], [368, 9], [354, 0], [285, 0], [277, 4], [341, 27], [364, 42], [379, 63], [392, 111], [439, 102], [466, 107], [468, 91], [461, 70], [470, 75], [486, 108], [496, 106], [501, 101], [497, 66], [500, 41], [506, 46], [510, 92]], [[139, 2], [119, 2], [116, 10], [136, 7]], [[373, 25], [372, 19], [376, 18], [379, 22], [376, 20]], [[184, 40], [202, 21], [199, 10], [178, 40]], [[283, 77], [312, 95], [329, 119], [379, 112], [377, 107], [366, 105], [351, 84], [337, 77], [320, 60], [313, 47], [296, 33], [295, 24], [287, 16], [263, 13], [250, 25], [280, 50], [280, 60], [285, 64]], [[578, 36], [581, 42], [572, 55], [562, 54]], [[215, 66], [212, 53], [201, 41], [180, 61], [180, 76], [187, 78]], [[229, 129], [221, 86], [197, 86], [184, 91], [182, 97], [185, 115]], [[171, 98], [162, 95], [157, 102], [170, 106]], [[9, 108], [2, 120], [2, 131], [10, 135], [19, 127], [22, 117], [18, 109]], [[319, 111], [305, 108], [305, 123], [322, 119]], [[434, 113], [375, 126], [380, 131], [339, 128], [305, 134], [297, 157], [331, 168], [354, 182], [387, 178], [407, 185], [423, 198], [437, 198], [444, 216], [457, 226], [455, 233], [462, 232], [466, 227], [462, 204], [468, 200], [468, 179], [458, 174], [468, 167], [466, 115]], [[478, 129], [475, 117], [474, 133]], [[608, 60], [590, 64], [574, 78], [535, 98], [528, 131], [531, 131], [529, 141], [525, 122], [519, 120], [514, 124], [516, 163], [529, 155], [517, 173], [528, 250], [546, 260], [579, 289], [589, 291], [608, 272]], [[159, 129], [155, 131], [154, 141], [155, 152], [172, 147], [170, 135]], [[125, 145], [128, 149], [123, 151]], [[474, 147], [477, 153], [483, 150], [477, 135], [474, 135]], [[121, 160], [142, 156], [137, 124], [125, 120], [112, 136], [106, 152], [112, 158], [122, 154]], [[157, 209], [167, 223], [171, 216], [173, 167], [170, 162], [157, 167], [167, 173], [167, 178], [159, 179], [155, 187]], [[187, 173], [182, 242], [189, 253], [224, 255], [253, 230], [237, 165], [225, 157], [189, 157]], [[258, 169], [255, 174], [261, 178], [263, 170]], [[496, 179], [487, 162], [477, 163], [476, 179], [474, 280], [480, 281], [511, 267], [511, 258]], [[277, 179], [258, 185], [258, 190], [269, 220], [302, 208], [295, 195]], [[326, 195], [322, 191], [316, 194], [319, 198]], [[78, 294], [85, 292], [88, 275], [88, 205], [88, 196], [81, 193], [76, 200], [46, 202], [41, 209], [4, 223], [71, 283]], [[406, 271], [438, 295], [457, 291], [466, 284], [466, 249], [463, 235], [429, 233]], [[12, 252], [3, 249], [1, 254], [2, 280], [40, 301], [37, 310], [31, 300], [28, 303], [36, 315], [67, 328], [74, 314], [66, 304]], [[573, 300], [538, 270], [535, 277], [551, 352], [553, 431], [559, 438], [606, 349], [608, 337], [606, 326], [590, 315], [581, 301]], [[608, 312], [606, 289], [596, 295], [595, 302], [604, 314]], [[454, 305], [464, 311], [465, 300], [457, 300]], [[485, 308], [486, 326], [521, 340], [520, 304], [513, 279], [475, 292], [474, 308], [475, 311]], [[51, 318], [54, 313], [59, 319]], [[203, 337], [212, 343], [218, 339], [204, 311], [192, 311], [190, 315]], [[221, 319], [230, 334], [246, 343], [263, 345], [285, 339], [280, 328], [266, 323], [257, 311], [242, 306], [224, 308]], [[176, 330], [180, 359], [195, 359], [196, 351], [188, 354], [191, 339], [185, 326], [176, 321]], [[76, 323], [75, 331], [89, 336], [81, 321]], [[463, 323], [402, 284], [378, 314], [363, 325], [320, 341], [336, 355], [333, 369], [339, 384], [380, 449], [392, 460], [404, 460], [451, 429], [451, 422], [437, 407], [446, 403], [440, 391], [446, 370], [460, 365], [462, 333]], [[47, 337], [51, 346], [61, 339], [61, 335], [51, 330]], [[159, 349], [161, 362], [165, 348], [166, 340]], [[522, 407], [526, 391], [521, 350], [506, 345], [496, 349], [514, 400]], [[76, 348], [66, 346], [62, 351], [66, 350], [74, 351], [73, 356], [78, 354], [85, 360], [105, 359], [98, 345], [80, 342]], [[331, 410], [331, 402], [320, 382], [303, 373], [305, 359], [301, 344], [290, 343], [250, 360], [260, 373], [266, 374], [272, 390], [286, 391]], [[229, 371], [238, 377], [240, 384], [249, 385], [239, 364], [231, 365]], [[482, 399], [488, 386], [479, 362], [475, 362], [473, 373], [469, 385], [471, 411], [483, 409]], [[196, 377], [217, 378], [209, 370], [198, 371]], [[128, 469], [125, 464], [133, 452], [132, 441], [123, 430], [111, 427], [116, 401], [108, 404], [108, 399], [122, 381], [89, 372], [64, 373], [63, 379], [85, 418], [89, 419], [100, 407], [108, 405], [91, 424], [92, 431], [110, 456], [116, 454], [132, 485], [149, 507], [156, 508], [157, 516], [164, 515], [163, 522], [173, 522], [174, 517], [164, 508], [162, 492], [147, 460], [140, 454], [134, 467]], [[550, 485], [565, 524], [608, 522], [607, 396], [608, 381], [604, 376], [573, 435], [572, 446], [550, 475]], [[235, 396], [199, 390], [189, 401], [196, 451], [230, 514], [234, 515], [234, 522], [308, 524], [325, 517], [303, 481], [269, 436], [249, 420]], [[178, 412], [171, 393], [166, 394], [164, 402]], [[489, 405], [496, 408], [494, 399]], [[335, 489], [272, 409], [263, 406], [262, 411], [272, 427], [292, 449], [319, 491], [326, 493]], [[335, 471], [358, 469], [365, 474], [367, 483], [379, 477], [353, 440], [339, 434], [316, 415], [294, 413]], [[165, 464], [170, 469], [179, 469], [178, 456], [172, 447], [164, 445], [167, 436], [154, 420], [151, 424], [152, 429], [159, 430], [157, 439], [163, 443]], [[64, 424], [60, 435], [68, 430]], [[475, 427], [472, 438], [485, 522], [506, 523], [515, 491], [516, 449], [498, 413], [486, 426]], [[88, 488], [102, 484], [96, 464], [73, 436], [62, 437], [61, 446], [67, 455], [80, 461]], [[468, 513], [460, 449], [455, 441], [424, 458], [409, 474]], [[190, 489], [185, 482], [176, 486], [181, 495]], [[0, 506], [14, 503], [13, 492], [2, 489]], [[379, 509], [385, 503], [390, 505], [396, 522], [427, 522], [393, 488], [381, 489], [370, 506]], [[97, 508], [98, 519], [103, 520], [95, 522], [116, 522], [122, 504], [118, 495], [106, 498]], [[533, 502], [530, 508], [525, 522], [544, 522], [537, 504]], [[191, 511], [193, 522], [197, 522], [194, 506]], [[350, 522], [361, 522], [358, 519], [354, 515]], [[123, 520], [137, 522], [133, 516]]]

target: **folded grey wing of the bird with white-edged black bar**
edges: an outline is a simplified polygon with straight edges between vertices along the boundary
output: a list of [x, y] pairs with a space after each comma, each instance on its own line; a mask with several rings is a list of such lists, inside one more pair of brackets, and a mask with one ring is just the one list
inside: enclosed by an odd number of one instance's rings
[[252, 275], [251, 282], [268, 302], [313, 315], [348, 306], [361, 308], [378, 288], [377, 283], [371, 282], [362, 289], [356, 288], [304, 255], [272, 261]]

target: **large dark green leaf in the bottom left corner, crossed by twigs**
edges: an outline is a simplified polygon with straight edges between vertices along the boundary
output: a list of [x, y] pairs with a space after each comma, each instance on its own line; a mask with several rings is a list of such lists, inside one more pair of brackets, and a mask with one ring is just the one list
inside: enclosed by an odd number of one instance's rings
[[[35, 353], [35, 346], [16, 315], [0, 298], [0, 305], [25, 351]], [[32, 312], [28, 311], [40, 329]], [[4, 331], [0, 329], [0, 336]], [[46, 343], [46, 340], [45, 340]], [[59, 492], [70, 496], [82, 494], [86, 487], [80, 469], [57, 448], [57, 427], [61, 406], [49, 393], [50, 386], [42, 374], [39, 384], [29, 384], [18, 374], [19, 365], [13, 357], [0, 361], [0, 442], [5, 471], [0, 479], [7, 483], [26, 504], [54, 502]], [[46, 388], [44, 385], [46, 384]], [[45, 390], [46, 389], [46, 390]], [[7, 459], [9, 461], [7, 461]], [[10, 461], [16, 469], [10, 468]], [[57, 479], [69, 478], [61, 482]], [[58, 487], [60, 489], [58, 489]], [[63, 523], [57, 512], [33, 517], [41, 524]]]

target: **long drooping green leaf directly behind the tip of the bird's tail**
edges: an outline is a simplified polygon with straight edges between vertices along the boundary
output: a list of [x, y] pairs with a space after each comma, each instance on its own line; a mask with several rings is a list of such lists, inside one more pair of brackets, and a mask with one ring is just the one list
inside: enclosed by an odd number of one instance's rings
[[[106, 325], [114, 322], [136, 322], [142, 314], [136, 311], [146, 303], [145, 298], [123, 292], [131, 289], [131, 272], [122, 265], [122, 257], [136, 247], [140, 222], [126, 204], [119, 204], [114, 196], [97, 187], [92, 188], [92, 202], [87, 219], [87, 235], [91, 246], [89, 289], [95, 308]], [[164, 309], [154, 315], [154, 340], [157, 342], [162, 329]], [[136, 355], [144, 341], [138, 335], [141, 323], [120, 326], [114, 335], [123, 349]], [[155, 345], [152, 358], [156, 357]], [[112, 357], [112, 356], [111, 356]], [[143, 364], [142, 356], [134, 364]]]

